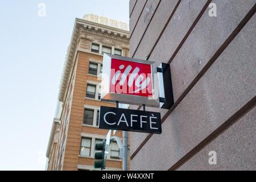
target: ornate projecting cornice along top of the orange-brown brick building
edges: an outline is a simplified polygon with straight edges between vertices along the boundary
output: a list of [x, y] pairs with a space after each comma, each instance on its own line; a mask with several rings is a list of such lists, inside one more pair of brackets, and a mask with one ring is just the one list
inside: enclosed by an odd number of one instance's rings
[[77, 43], [80, 38], [80, 32], [102, 36], [108, 39], [119, 40], [120, 42], [129, 43], [129, 31], [121, 30], [114, 27], [105, 26], [104, 24], [89, 22], [88, 20], [76, 18], [71, 43], [68, 48], [67, 56], [64, 63], [63, 74], [60, 82], [59, 100], [63, 101], [67, 92], [68, 81], [71, 76], [73, 63], [77, 51]]

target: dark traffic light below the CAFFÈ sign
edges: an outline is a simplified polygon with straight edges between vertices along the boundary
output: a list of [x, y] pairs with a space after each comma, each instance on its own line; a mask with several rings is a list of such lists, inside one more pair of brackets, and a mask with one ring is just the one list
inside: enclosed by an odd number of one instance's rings
[[95, 150], [100, 152], [95, 152], [95, 160], [94, 162], [94, 168], [101, 168], [105, 169], [106, 161], [105, 161], [105, 148], [106, 148], [106, 140], [103, 140], [101, 143], [96, 143]]

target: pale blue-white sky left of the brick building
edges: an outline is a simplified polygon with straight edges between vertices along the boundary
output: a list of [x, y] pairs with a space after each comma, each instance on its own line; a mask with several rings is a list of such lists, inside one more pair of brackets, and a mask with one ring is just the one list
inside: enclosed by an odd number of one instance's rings
[[0, 170], [44, 170], [75, 18], [91, 13], [129, 23], [129, 0], [0, 1]]

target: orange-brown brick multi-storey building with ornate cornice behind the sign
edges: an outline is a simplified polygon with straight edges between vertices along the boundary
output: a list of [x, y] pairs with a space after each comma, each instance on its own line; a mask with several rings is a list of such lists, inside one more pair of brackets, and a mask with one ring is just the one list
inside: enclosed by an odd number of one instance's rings
[[[94, 146], [108, 130], [98, 129], [103, 53], [129, 55], [127, 24], [85, 15], [76, 19], [61, 78], [59, 102], [47, 148], [47, 170], [94, 170]], [[115, 134], [122, 137], [122, 133]], [[116, 142], [110, 144], [106, 170], [120, 170]]]

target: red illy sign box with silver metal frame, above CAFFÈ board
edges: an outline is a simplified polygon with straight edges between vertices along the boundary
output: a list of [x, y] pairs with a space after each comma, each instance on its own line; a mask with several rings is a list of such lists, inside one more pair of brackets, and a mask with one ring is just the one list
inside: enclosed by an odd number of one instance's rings
[[159, 107], [153, 64], [151, 61], [104, 53], [101, 100]]

